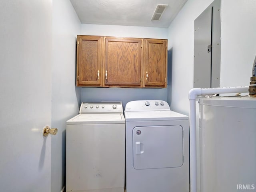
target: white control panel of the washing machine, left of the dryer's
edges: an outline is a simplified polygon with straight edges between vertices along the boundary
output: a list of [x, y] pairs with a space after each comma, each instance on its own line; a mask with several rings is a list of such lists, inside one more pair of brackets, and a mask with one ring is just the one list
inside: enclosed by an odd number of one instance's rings
[[122, 113], [122, 102], [82, 102], [79, 114], [83, 113]]

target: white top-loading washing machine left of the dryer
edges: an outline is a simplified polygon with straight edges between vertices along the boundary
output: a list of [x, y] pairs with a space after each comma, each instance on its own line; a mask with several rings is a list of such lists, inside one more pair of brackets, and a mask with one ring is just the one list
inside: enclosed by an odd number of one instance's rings
[[125, 119], [121, 102], [83, 102], [66, 122], [66, 191], [124, 192]]

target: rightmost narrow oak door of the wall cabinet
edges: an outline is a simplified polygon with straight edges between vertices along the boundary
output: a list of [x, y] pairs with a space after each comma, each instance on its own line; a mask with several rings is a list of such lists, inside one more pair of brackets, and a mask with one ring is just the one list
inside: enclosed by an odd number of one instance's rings
[[145, 39], [144, 87], [166, 87], [167, 40]]

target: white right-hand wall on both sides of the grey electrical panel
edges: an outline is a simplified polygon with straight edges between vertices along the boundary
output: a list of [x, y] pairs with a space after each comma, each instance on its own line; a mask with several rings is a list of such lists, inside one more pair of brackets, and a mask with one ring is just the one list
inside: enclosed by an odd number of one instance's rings
[[[188, 91], [193, 88], [194, 20], [213, 0], [188, 0], [168, 28], [172, 49], [172, 90], [168, 101], [188, 114]], [[256, 55], [256, 1], [222, 0], [220, 86], [248, 86]], [[170, 62], [170, 61], [169, 61]]]

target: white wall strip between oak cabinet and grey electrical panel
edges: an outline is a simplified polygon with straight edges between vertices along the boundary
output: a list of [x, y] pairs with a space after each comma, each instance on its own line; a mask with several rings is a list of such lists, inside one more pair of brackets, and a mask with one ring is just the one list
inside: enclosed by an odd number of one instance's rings
[[168, 50], [172, 50], [171, 90], [168, 102], [172, 110], [189, 113], [188, 91], [193, 88], [194, 20], [213, 0], [188, 0], [168, 28]]

